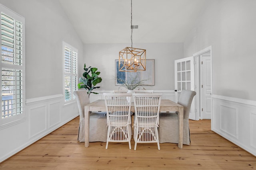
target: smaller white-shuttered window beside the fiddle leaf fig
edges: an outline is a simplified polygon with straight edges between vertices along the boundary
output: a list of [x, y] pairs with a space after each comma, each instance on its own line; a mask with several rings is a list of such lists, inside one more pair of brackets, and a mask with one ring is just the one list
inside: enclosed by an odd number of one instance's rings
[[76, 98], [73, 91], [77, 90], [78, 82], [78, 50], [63, 42], [64, 49], [64, 100], [73, 102]]

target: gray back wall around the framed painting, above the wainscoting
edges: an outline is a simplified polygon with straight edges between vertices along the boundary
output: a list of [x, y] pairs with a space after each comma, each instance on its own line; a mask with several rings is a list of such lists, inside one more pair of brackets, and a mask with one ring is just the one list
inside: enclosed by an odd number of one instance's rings
[[[115, 86], [115, 59], [119, 51], [130, 44], [85, 44], [84, 63], [86, 67], [97, 67], [102, 82], [99, 90], [118, 90]], [[146, 49], [146, 59], [155, 59], [155, 86], [147, 90], [174, 90], [174, 60], [183, 57], [183, 43], [134, 43], [133, 47]], [[80, 73], [83, 72], [80, 68]], [[82, 76], [82, 75], [80, 75]]]

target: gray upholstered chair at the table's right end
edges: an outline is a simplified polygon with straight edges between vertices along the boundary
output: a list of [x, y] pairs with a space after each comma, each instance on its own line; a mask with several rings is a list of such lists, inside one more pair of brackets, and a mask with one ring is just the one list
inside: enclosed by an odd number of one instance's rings
[[[196, 92], [182, 90], [178, 98], [178, 104], [184, 106], [183, 117], [183, 144], [190, 145], [189, 112], [192, 100]], [[178, 113], [160, 113], [159, 115], [159, 143], [178, 143]]]

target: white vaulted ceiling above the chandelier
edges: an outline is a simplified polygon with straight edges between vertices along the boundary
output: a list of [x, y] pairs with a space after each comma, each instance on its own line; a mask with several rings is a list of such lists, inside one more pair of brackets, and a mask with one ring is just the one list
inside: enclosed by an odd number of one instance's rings
[[[207, 0], [133, 0], [133, 43], [183, 42]], [[83, 43], [131, 43], [130, 0], [59, 0]]]

